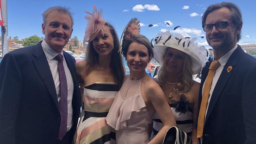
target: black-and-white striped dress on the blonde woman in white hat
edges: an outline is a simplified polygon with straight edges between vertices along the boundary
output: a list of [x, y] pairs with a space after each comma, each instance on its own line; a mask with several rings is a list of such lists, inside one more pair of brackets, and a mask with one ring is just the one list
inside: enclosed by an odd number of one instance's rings
[[[188, 108], [186, 113], [181, 113], [176, 111], [177, 103], [169, 103], [169, 105], [173, 111], [173, 115], [175, 116], [177, 127], [191, 136], [193, 129], [193, 109]], [[160, 129], [163, 127], [163, 123], [161, 122], [157, 113], [153, 114], [152, 119], [154, 123], [153, 133], [150, 139], [155, 137], [158, 131], [160, 131]]]

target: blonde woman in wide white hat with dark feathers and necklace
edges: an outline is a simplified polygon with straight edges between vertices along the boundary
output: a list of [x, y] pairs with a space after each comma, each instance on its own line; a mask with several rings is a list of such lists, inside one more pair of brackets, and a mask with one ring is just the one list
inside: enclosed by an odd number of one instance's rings
[[[201, 72], [206, 49], [181, 35], [172, 34], [169, 39], [170, 35], [170, 31], [160, 33], [157, 37], [161, 40], [154, 44], [154, 59], [161, 65], [156, 81], [165, 94], [177, 127], [192, 138], [193, 144], [199, 144], [196, 126], [200, 83], [193, 80], [193, 75]], [[154, 137], [164, 125], [158, 114], [152, 119]]]

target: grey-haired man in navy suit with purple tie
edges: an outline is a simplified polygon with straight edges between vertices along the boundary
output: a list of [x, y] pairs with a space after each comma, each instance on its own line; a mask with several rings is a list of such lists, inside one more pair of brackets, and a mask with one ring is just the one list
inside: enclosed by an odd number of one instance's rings
[[45, 39], [9, 52], [0, 63], [0, 144], [70, 144], [81, 95], [74, 58], [63, 51], [72, 34], [68, 8], [43, 13]]

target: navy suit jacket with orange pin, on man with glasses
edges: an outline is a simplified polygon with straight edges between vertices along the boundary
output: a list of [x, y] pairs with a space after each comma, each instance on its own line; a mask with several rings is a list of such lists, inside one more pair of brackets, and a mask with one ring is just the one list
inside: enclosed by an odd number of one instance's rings
[[[212, 59], [202, 70], [202, 86]], [[228, 66], [232, 70], [227, 72]], [[256, 144], [256, 59], [237, 49], [228, 59], [213, 90], [206, 114], [203, 144]]]

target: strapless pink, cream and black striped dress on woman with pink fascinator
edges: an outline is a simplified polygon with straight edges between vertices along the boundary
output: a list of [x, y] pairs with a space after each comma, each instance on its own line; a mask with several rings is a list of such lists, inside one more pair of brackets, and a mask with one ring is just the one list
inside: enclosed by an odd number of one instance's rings
[[83, 89], [82, 117], [74, 137], [75, 144], [115, 144], [115, 129], [106, 116], [118, 92], [112, 82], [97, 82]]

